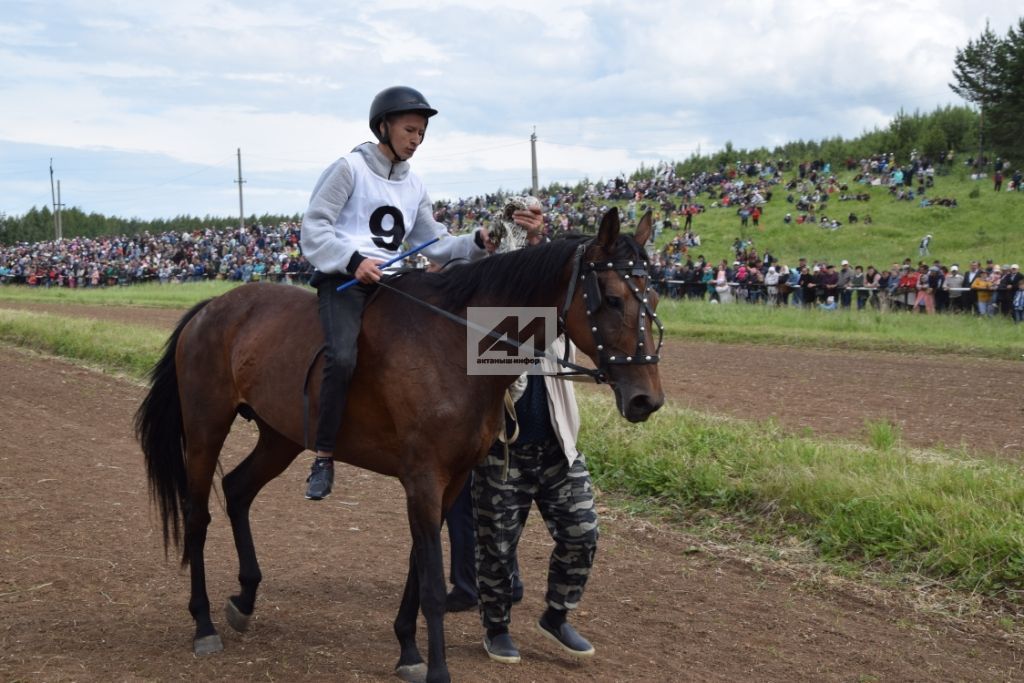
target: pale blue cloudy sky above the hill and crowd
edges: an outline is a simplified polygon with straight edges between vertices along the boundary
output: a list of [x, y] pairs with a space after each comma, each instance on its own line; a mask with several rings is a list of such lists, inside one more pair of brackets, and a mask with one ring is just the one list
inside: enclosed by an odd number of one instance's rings
[[0, 0], [0, 212], [301, 213], [394, 84], [440, 111], [433, 199], [611, 178], [731, 141], [852, 137], [964, 103], [990, 0]]

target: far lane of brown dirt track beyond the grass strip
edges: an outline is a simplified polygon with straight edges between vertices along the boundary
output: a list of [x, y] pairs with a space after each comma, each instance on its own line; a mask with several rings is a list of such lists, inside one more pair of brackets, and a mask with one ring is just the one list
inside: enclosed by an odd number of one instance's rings
[[[0, 307], [14, 307], [0, 302]], [[171, 330], [179, 310], [31, 304], [35, 310]], [[679, 405], [792, 429], [861, 438], [865, 421], [896, 422], [905, 442], [1024, 453], [1024, 362], [670, 340], [666, 395]]]

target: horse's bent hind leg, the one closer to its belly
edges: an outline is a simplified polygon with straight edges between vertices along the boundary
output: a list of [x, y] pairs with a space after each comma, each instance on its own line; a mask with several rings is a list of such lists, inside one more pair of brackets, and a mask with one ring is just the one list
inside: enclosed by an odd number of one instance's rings
[[240, 633], [249, 628], [249, 620], [256, 607], [256, 590], [263, 579], [256, 559], [249, 509], [263, 486], [284, 472], [302, 451], [302, 446], [285, 438], [266, 423], [260, 421], [257, 424], [259, 440], [255, 447], [222, 482], [234, 550], [239, 555], [241, 586], [240, 593], [227, 599], [224, 616], [231, 628]]

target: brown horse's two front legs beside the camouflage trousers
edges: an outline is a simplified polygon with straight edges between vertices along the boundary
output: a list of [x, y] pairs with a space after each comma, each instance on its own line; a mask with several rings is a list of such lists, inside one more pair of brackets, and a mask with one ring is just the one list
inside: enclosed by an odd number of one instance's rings
[[[403, 480], [409, 508], [409, 522], [413, 532], [413, 556], [402, 596], [401, 607], [395, 618], [395, 634], [402, 647], [402, 656], [413, 652], [419, 658], [415, 644], [416, 592], [420, 608], [427, 622], [427, 683], [451, 681], [444, 658], [444, 566], [441, 557], [441, 494], [444, 489], [432, 475], [418, 480]], [[415, 577], [415, 579], [414, 579]], [[418, 583], [410, 587], [409, 582]], [[410, 622], [413, 622], [410, 625]], [[402, 638], [406, 638], [403, 641]], [[415, 658], [412, 664], [415, 665]], [[399, 660], [399, 668], [403, 665]]]

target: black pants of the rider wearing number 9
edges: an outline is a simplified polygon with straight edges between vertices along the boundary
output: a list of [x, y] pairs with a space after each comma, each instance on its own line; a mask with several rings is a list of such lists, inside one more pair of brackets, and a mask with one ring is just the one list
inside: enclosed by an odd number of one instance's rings
[[351, 279], [325, 278], [316, 285], [326, 348], [314, 446], [316, 451], [328, 453], [334, 452], [348, 398], [348, 384], [355, 371], [362, 309], [376, 289], [373, 285], [355, 285], [338, 292], [338, 285], [348, 280]]

